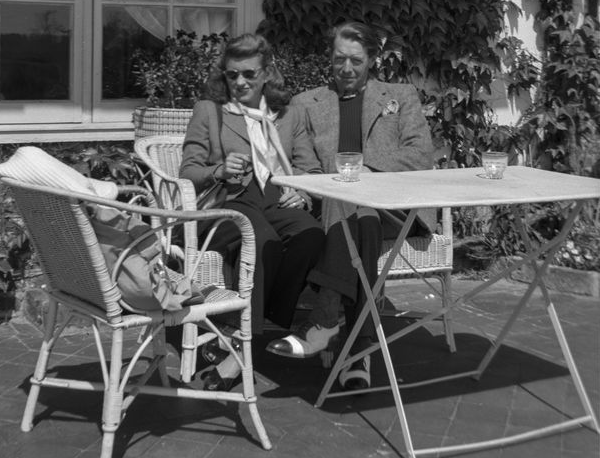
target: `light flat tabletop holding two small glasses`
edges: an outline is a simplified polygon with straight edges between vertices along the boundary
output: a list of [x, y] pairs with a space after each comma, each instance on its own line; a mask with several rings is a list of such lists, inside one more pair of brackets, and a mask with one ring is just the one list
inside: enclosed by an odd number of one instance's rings
[[341, 182], [337, 174], [275, 176], [273, 184], [379, 209], [469, 207], [600, 198], [600, 179], [510, 166], [504, 178], [483, 168], [361, 173]]

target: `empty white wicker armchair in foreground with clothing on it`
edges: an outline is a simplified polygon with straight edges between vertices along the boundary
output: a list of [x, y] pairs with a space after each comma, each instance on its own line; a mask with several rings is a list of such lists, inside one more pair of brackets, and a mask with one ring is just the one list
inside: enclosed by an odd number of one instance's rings
[[[240, 213], [228, 210], [202, 212], [176, 212], [119, 203], [114, 200], [78, 194], [21, 181], [2, 178], [1, 182], [13, 192], [15, 201], [36, 248], [42, 269], [47, 276], [50, 308], [45, 323], [45, 333], [39, 352], [31, 388], [21, 423], [23, 431], [30, 431], [38, 396], [42, 387], [104, 392], [102, 409], [102, 457], [112, 456], [115, 431], [125, 412], [138, 394], [171, 396], [178, 398], [226, 400], [247, 404], [254, 427], [262, 446], [271, 444], [260, 419], [254, 393], [250, 295], [255, 258], [254, 232], [249, 221]], [[123, 191], [131, 192], [132, 187]], [[241, 267], [236, 291], [218, 289], [209, 294], [205, 302], [184, 306], [181, 310], [140, 311], [132, 308], [122, 298], [115, 281], [109, 274], [98, 240], [92, 229], [85, 206], [99, 204], [133, 212], [162, 221], [195, 223], [198, 220], [230, 220], [242, 234]], [[115, 266], [116, 269], [116, 266]], [[175, 274], [173, 274], [175, 275]], [[57, 327], [58, 304], [65, 306], [69, 319]], [[220, 335], [213, 317], [236, 312], [241, 316], [241, 327], [236, 337], [242, 342], [241, 357], [243, 390], [233, 392], [207, 392], [190, 388], [171, 388], [166, 372], [166, 346], [164, 329], [167, 326], [187, 323], [204, 323]], [[98, 349], [102, 382], [49, 377], [48, 362], [62, 331], [73, 316], [91, 320]], [[110, 361], [104, 354], [99, 324], [108, 327], [111, 336]], [[123, 361], [123, 333], [129, 328], [144, 328], [139, 348], [129, 364]], [[222, 335], [220, 335], [223, 338]], [[132, 380], [132, 371], [142, 352], [153, 349], [152, 360], [145, 373]], [[230, 348], [231, 349], [231, 348]], [[123, 369], [123, 370], [122, 370]], [[163, 386], [146, 385], [150, 376], [158, 371]]]

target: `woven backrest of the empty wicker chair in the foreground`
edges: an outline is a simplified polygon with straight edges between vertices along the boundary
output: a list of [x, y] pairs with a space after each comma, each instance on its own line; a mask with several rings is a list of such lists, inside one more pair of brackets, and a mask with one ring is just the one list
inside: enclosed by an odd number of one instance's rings
[[100, 251], [84, 203], [68, 191], [2, 178], [15, 198], [51, 291], [66, 293], [106, 313], [121, 314], [121, 299]]

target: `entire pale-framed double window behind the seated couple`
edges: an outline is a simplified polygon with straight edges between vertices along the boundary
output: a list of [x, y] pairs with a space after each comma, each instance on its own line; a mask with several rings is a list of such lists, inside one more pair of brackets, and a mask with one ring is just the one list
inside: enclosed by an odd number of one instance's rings
[[136, 49], [178, 29], [252, 32], [261, 18], [261, 0], [0, 0], [0, 142], [133, 138]]

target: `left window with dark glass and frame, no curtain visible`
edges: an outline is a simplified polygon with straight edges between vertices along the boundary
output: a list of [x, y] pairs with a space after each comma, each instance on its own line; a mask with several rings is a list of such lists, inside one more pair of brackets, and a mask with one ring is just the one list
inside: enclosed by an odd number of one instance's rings
[[74, 1], [0, 1], [0, 123], [81, 118], [80, 15]]

